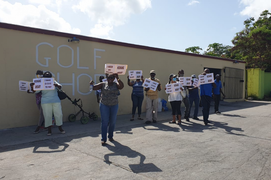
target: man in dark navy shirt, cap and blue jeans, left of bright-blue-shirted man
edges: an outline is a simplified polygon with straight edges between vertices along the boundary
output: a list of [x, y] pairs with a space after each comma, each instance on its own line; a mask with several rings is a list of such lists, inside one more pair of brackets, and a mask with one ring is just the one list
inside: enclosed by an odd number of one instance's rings
[[[192, 84], [194, 83], [194, 80], [196, 79], [196, 75], [193, 74], [192, 76]], [[189, 86], [188, 87], [188, 98], [190, 102], [190, 108], [188, 112], [188, 116], [190, 116], [191, 107], [193, 105], [193, 102], [195, 103], [195, 110], [194, 110], [194, 120], [199, 120], [198, 118], [198, 112], [199, 112], [199, 89], [198, 86]]]

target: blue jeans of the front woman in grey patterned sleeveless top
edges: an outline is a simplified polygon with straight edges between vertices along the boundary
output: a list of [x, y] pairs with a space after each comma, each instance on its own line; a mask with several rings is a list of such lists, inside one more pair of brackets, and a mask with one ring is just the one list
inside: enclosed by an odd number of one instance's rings
[[108, 138], [113, 138], [113, 132], [115, 129], [116, 119], [117, 119], [117, 113], [118, 113], [118, 104], [114, 106], [107, 106], [102, 103], [100, 103], [100, 112], [101, 112], [101, 134], [102, 134], [102, 141], [107, 141], [106, 135], [107, 135], [107, 126], [109, 122], [109, 128], [108, 128]]

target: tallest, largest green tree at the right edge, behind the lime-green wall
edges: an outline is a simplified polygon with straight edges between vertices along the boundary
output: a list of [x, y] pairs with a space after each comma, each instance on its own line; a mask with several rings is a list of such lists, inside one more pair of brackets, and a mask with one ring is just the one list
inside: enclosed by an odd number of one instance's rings
[[263, 11], [257, 21], [244, 21], [245, 28], [236, 33], [232, 43], [235, 59], [246, 61], [246, 68], [271, 68], [271, 13]]

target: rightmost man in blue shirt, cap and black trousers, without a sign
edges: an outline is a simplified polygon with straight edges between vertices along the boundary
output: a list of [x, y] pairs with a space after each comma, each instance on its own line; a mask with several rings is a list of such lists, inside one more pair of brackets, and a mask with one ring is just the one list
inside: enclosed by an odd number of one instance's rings
[[214, 98], [214, 106], [215, 106], [215, 114], [220, 114], [218, 111], [219, 101], [220, 101], [220, 93], [222, 93], [223, 98], [225, 98], [225, 94], [222, 92], [222, 84], [221, 84], [221, 74], [217, 74], [215, 79], [215, 84], [217, 85], [216, 88], [212, 89], [213, 98]]

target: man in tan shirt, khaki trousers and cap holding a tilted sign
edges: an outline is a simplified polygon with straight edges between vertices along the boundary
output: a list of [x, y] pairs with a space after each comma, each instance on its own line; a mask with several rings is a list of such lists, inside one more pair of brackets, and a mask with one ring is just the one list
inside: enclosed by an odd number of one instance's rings
[[[161, 91], [161, 84], [159, 79], [155, 78], [155, 71], [150, 71], [150, 78], [146, 79], [144, 83], [146, 83], [147, 80], [154, 81], [158, 84], [152, 84], [151, 87], [144, 87], [144, 91], [146, 91], [146, 124], [150, 124], [151, 120], [153, 123], [156, 123], [157, 120], [157, 104], [158, 104], [158, 91]], [[157, 86], [156, 86], [157, 85]], [[156, 88], [154, 88], [156, 86]], [[153, 89], [154, 88], [154, 89]]]

